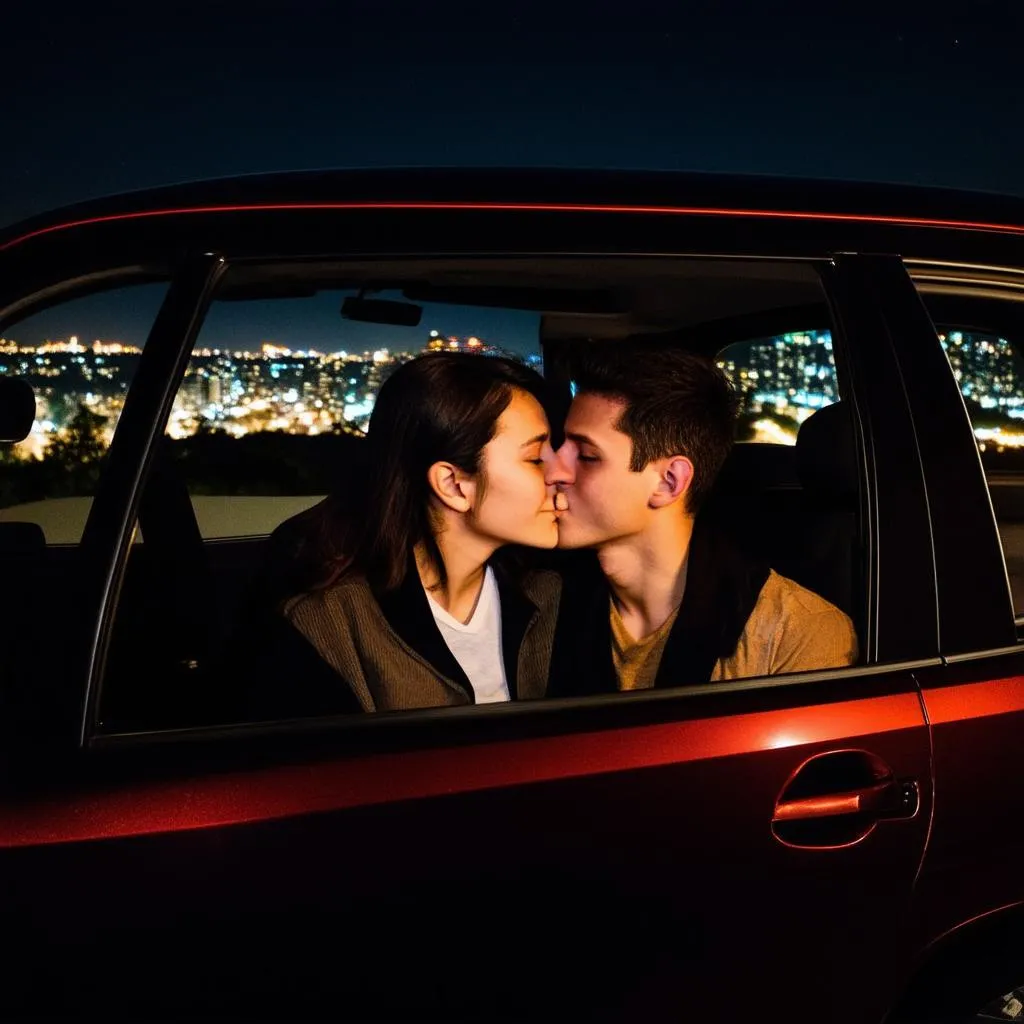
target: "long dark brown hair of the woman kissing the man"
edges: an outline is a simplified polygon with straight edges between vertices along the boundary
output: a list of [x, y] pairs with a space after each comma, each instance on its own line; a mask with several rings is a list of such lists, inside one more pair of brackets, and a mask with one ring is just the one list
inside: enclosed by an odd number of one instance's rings
[[358, 442], [364, 478], [339, 481], [332, 498], [311, 510], [298, 590], [329, 587], [350, 571], [393, 590], [421, 542], [443, 581], [427, 470], [443, 461], [478, 472], [516, 388], [547, 410], [544, 378], [513, 359], [437, 352], [398, 367], [381, 386], [368, 437]]

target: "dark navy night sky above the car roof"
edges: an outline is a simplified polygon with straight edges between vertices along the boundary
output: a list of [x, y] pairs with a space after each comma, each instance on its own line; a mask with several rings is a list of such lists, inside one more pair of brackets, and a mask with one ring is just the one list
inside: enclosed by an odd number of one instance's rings
[[669, 6], [12, 3], [0, 224], [176, 181], [385, 165], [1024, 195], [1020, 0]]

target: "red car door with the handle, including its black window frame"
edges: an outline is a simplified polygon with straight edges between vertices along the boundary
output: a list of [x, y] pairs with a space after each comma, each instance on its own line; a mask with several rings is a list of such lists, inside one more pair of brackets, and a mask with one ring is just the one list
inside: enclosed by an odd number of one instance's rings
[[918, 441], [863, 267], [819, 266], [859, 435], [860, 667], [103, 736], [90, 694], [118, 560], [223, 272], [194, 259], [83, 541], [98, 628], [81, 750], [24, 772], [3, 808], [8, 1005], [880, 1017], [911, 951], [932, 807], [915, 673], [938, 664], [938, 636]]

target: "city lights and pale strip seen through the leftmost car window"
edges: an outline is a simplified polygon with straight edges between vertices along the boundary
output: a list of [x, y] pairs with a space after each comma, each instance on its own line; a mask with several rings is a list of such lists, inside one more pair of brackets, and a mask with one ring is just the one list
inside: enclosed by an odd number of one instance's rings
[[0, 529], [28, 522], [49, 546], [78, 544], [165, 293], [142, 285], [75, 299], [0, 339], [0, 374], [27, 380], [36, 394], [31, 435], [0, 445]]

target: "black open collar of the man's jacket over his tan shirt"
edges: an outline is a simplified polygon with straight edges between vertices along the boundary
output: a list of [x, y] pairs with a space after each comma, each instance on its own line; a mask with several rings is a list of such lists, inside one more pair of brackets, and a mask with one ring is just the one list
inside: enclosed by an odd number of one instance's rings
[[[715, 664], [736, 649], [768, 566], [746, 559], [713, 523], [697, 517], [686, 590], [666, 641], [656, 687], [708, 682]], [[614, 693], [610, 592], [593, 553], [574, 554], [564, 573], [551, 662], [551, 696]]]

